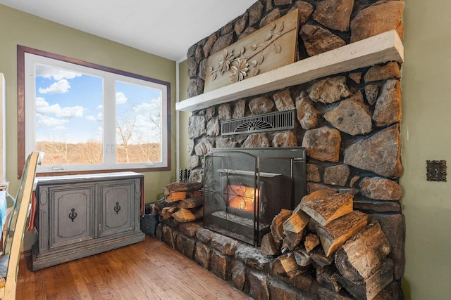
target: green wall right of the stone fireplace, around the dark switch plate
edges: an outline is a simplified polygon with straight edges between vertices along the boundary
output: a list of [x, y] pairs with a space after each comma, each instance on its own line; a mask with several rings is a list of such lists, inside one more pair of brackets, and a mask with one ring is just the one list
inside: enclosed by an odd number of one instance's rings
[[426, 181], [426, 160], [451, 167], [451, 1], [407, 0], [402, 65], [402, 208], [407, 299], [450, 299], [451, 170]]

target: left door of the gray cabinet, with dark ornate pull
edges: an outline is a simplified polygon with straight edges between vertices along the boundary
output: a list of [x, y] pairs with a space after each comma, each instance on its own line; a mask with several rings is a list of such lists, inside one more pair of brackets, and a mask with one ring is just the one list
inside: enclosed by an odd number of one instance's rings
[[51, 195], [50, 248], [94, 238], [94, 185], [49, 188]]

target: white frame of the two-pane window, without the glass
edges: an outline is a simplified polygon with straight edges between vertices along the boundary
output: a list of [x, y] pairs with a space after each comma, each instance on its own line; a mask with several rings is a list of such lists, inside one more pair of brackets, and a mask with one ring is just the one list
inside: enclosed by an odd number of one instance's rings
[[[67, 58], [62, 60], [57, 58], [42, 56], [40, 53], [30, 53], [30, 48], [25, 48], [23, 52], [23, 89], [25, 93], [25, 153], [30, 153], [35, 149], [35, 117], [36, 117], [36, 95], [35, 95], [35, 66], [48, 65], [51, 67], [70, 70], [82, 74], [88, 74], [103, 78], [104, 100], [103, 100], [103, 155], [104, 162], [101, 164], [66, 164], [66, 165], [43, 165], [38, 166], [37, 172], [42, 174], [74, 174], [96, 171], [116, 171], [116, 170], [138, 170], [138, 171], [161, 171], [171, 169], [170, 153], [170, 84], [140, 75], [131, 74], [108, 67], [102, 67], [80, 60]], [[34, 50], [34, 49], [32, 49]], [[19, 54], [18, 54], [19, 56]], [[55, 56], [55, 55], [54, 55]], [[20, 65], [20, 64], [19, 64]], [[20, 66], [19, 66], [20, 67]], [[19, 70], [18, 70], [19, 72]], [[18, 74], [19, 76], [19, 74]], [[116, 81], [126, 84], [145, 86], [161, 91], [161, 162], [142, 163], [117, 163], [116, 162]], [[18, 85], [20, 86], [20, 85]], [[20, 157], [19, 157], [20, 162]], [[19, 168], [20, 169], [20, 168]]]

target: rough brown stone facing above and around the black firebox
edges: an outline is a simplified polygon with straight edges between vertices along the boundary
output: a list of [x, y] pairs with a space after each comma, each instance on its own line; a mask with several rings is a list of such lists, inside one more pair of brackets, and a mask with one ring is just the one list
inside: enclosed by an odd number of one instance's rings
[[[404, 2], [396, 0], [257, 1], [235, 20], [190, 47], [188, 96], [203, 93], [211, 54], [293, 8], [299, 8], [298, 48], [302, 60], [388, 30], [397, 30], [402, 38], [403, 7]], [[202, 182], [203, 157], [211, 148], [306, 148], [307, 193], [329, 189], [354, 195], [354, 209], [377, 219], [390, 240], [388, 257], [395, 263], [393, 278], [400, 289], [404, 272], [400, 80], [401, 65], [388, 61], [194, 112], [187, 146], [190, 180]], [[283, 110], [295, 110], [295, 129], [221, 136], [223, 120]], [[211, 268], [211, 262], [198, 263]], [[249, 281], [253, 278], [262, 282], [260, 273], [252, 274]]]

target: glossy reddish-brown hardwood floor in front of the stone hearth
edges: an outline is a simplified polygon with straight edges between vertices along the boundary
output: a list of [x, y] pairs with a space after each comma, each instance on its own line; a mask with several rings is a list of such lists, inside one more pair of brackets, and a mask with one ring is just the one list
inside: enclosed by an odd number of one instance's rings
[[250, 299], [163, 242], [144, 242], [32, 272], [20, 260], [16, 299]]

